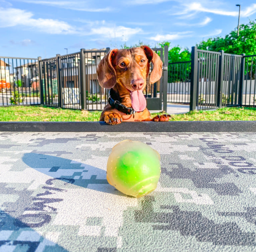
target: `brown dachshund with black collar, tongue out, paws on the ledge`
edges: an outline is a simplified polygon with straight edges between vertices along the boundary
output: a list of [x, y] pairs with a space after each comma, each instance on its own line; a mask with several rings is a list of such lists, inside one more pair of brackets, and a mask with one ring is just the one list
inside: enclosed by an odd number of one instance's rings
[[100, 121], [119, 124], [123, 121], [168, 121], [170, 115], [150, 117], [143, 90], [149, 73], [150, 83], [162, 76], [162, 61], [148, 46], [113, 49], [97, 67], [99, 83], [110, 89], [109, 103], [103, 109]]

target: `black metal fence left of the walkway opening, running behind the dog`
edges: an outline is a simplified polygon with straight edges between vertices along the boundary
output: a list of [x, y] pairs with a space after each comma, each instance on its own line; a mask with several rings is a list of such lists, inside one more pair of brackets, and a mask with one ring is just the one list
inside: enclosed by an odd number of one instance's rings
[[[109, 90], [99, 85], [96, 68], [109, 50], [81, 49], [77, 53], [57, 54], [48, 59], [2, 57], [0, 106], [42, 104], [69, 109], [103, 110], [108, 102]], [[167, 99], [163, 94], [167, 93], [168, 47], [152, 50], [164, 62], [164, 71], [156, 83], [151, 84], [147, 79], [147, 108], [166, 111]], [[151, 64], [150, 72], [152, 68]]]

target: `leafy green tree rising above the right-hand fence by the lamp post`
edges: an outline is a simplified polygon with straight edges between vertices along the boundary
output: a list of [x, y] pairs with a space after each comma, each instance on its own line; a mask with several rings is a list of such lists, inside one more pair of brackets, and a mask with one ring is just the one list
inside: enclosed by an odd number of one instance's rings
[[197, 44], [198, 49], [209, 51], [224, 50], [225, 53], [253, 55], [256, 54], [256, 20], [241, 24], [239, 36], [237, 28], [223, 37], [209, 38]]

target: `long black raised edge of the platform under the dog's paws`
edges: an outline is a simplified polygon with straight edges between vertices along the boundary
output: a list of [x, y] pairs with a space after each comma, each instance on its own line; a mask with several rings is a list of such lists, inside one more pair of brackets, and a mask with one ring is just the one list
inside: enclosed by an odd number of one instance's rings
[[0, 122], [9, 132], [256, 132], [256, 121], [178, 122]]

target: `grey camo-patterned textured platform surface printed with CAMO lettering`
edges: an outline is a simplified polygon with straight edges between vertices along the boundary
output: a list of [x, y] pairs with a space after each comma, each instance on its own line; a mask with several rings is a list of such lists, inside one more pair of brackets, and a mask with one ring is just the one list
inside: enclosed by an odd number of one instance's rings
[[[124, 139], [161, 155], [155, 191], [106, 180]], [[256, 251], [256, 133], [0, 132], [0, 252]]]

